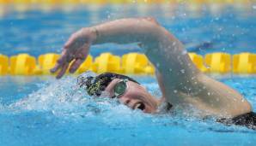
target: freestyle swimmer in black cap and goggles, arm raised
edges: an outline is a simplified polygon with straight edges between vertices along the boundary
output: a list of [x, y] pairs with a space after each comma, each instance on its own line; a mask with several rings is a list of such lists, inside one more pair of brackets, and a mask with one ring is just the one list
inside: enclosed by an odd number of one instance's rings
[[198, 116], [191, 111], [195, 108], [200, 117], [212, 116], [225, 124], [255, 129], [256, 114], [250, 103], [239, 92], [200, 72], [183, 44], [154, 18], [113, 20], [82, 28], [64, 44], [62, 55], [51, 72], [58, 72], [58, 79], [69, 65], [70, 73], [76, 72], [91, 45], [106, 43], [137, 43], [155, 65], [162, 98], [150, 95], [136, 80], [116, 73], [78, 79], [88, 95], [101, 96], [102, 91], [107, 91], [109, 97], [118, 98], [129, 108], [149, 114], [157, 113], [163, 103], [168, 103], [170, 110], [179, 107], [187, 114]]

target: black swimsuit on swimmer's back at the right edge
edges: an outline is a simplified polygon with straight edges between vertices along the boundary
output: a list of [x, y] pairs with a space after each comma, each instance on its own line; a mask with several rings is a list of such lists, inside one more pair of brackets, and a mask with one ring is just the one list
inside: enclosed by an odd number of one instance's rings
[[221, 122], [227, 126], [247, 126], [247, 128], [256, 130], [256, 113], [254, 112], [241, 114], [232, 119], [220, 119], [216, 121]]

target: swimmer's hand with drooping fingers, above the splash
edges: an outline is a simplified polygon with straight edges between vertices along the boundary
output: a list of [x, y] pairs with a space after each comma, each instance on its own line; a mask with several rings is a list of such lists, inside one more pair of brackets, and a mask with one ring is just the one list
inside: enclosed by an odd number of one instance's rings
[[[63, 51], [57, 61], [55, 67], [51, 69], [51, 73], [58, 74], [57, 79], [60, 79], [70, 66], [70, 73], [75, 73], [82, 62], [88, 56], [88, 51], [96, 38], [93, 28], [86, 27], [73, 33], [68, 41], [64, 44]], [[71, 63], [72, 62], [72, 63]], [[70, 65], [71, 63], [71, 65]]]

